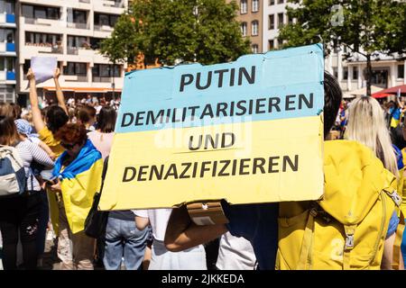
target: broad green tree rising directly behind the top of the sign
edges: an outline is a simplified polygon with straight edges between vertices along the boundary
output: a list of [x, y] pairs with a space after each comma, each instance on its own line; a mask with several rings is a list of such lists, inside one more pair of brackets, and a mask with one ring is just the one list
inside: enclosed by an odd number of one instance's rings
[[112, 60], [143, 53], [146, 63], [158, 58], [163, 65], [235, 60], [250, 52], [235, 19], [237, 9], [235, 1], [224, 0], [135, 0], [102, 51]]

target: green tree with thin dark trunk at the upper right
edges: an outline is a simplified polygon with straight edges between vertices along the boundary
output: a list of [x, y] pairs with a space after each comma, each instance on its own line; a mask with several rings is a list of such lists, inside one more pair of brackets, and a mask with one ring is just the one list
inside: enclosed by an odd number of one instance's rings
[[[326, 54], [340, 45], [345, 58], [359, 53], [366, 58], [366, 93], [371, 95], [371, 58], [378, 52], [406, 52], [406, 4], [392, 0], [290, 0], [296, 23], [281, 28], [283, 47], [323, 40]], [[337, 5], [339, 4], [339, 5]], [[340, 17], [342, 16], [342, 19]]]

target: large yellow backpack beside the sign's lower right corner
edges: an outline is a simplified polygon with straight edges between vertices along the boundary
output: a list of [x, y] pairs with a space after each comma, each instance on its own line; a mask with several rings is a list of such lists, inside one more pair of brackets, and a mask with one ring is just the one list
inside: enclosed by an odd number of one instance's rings
[[280, 203], [276, 269], [380, 269], [396, 178], [360, 143], [324, 149], [323, 199]]

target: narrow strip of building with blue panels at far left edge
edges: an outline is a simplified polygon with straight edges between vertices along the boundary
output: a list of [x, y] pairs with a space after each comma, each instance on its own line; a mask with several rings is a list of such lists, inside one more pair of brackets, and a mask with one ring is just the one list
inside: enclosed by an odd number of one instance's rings
[[0, 102], [15, 101], [16, 23], [14, 0], [0, 0]]

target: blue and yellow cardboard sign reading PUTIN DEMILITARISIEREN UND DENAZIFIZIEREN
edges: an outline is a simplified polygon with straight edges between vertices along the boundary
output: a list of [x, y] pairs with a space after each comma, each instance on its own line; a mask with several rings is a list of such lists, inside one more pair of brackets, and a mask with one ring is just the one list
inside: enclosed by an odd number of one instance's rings
[[101, 210], [316, 200], [321, 45], [125, 76]]

